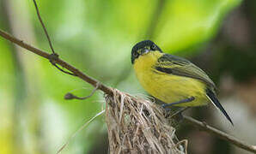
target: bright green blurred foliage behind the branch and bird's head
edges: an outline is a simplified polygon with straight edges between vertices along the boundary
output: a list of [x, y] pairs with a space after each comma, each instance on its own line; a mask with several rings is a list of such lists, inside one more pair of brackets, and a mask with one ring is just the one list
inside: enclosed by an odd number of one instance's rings
[[[159, 3], [163, 3], [161, 10]], [[225, 15], [240, 3], [241, 0], [38, 0], [60, 57], [108, 86], [131, 93], [142, 92], [131, 72], [133, 44], [152, 39], [166, 52], [196, 54], [187, 49], [197, 49], [213, 38]], [[0, 0], [0, 11], [1, 29], [14, 33], [12, 24], [18, 23], [15, 28], [20, 34], [15, 36], [49, 50], [32, 1]], [[152, 33], [150, 37], [148, 32]], [[27, 38], [27, 33], [34, 37]], [[0, 153], [54, 153], [82, 123], [101, 110], [102, 94], [97, 92], [84, 101], [66, 101], [65, 93], [85, 96], [92, 87], [59, 72], [38, 56], [16, 52], [19, 51], [13, 44], [0, 39]], [[23, 81], [16, 71], [24, 74]], [[23, 82], [23, 87], [15, 80]], [[20, 94], [17, 88], [24, 92], [23, 103], [15, 99]], [[87, 153], [98, 134], [105, 131], [103, 120], [94, 121], [70, 141], [64, 153]], [[19, 144], [14, 144], [15, 140]]]

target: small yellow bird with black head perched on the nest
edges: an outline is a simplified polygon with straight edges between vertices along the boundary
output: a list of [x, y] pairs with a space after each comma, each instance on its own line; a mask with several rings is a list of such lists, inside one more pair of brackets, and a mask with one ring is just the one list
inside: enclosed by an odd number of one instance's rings
[[213, 104], [234, 125], [216, 97], [216, 85], [192, 62], [143, 40], [132, 47], [131, 64], [145, 91], [161, 100], [164, 109]]

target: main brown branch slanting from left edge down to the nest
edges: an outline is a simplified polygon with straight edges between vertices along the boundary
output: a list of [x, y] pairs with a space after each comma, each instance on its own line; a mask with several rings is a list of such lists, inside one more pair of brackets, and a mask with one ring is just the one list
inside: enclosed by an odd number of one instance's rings
[[[9, 41], [11, 41], [14, 44], [17, 44], [19, 46], [21, 46], [24, 49], [27, 49], [31, 52], [33, 52], [36, 55], [42, 56], [48, 60], [50, 60], [50, 54], [48, 54], [46, 51], [40, 50], [35, 48], [32, 45], [26, 44], [24, 43], [21, 39], [16, 39], [15, 37], [9, 35], [9, 33], [5, 33], [3, 30], [0, 29], [0, 36], [2, 36], [4, 39], [7, 39]], [[97, 83], [99, 83], [99, 87], [98, 89], [100, 89], [102, 92], [105, 92], [109, 95], [113, 94], [112, 88], [103, 85], [102, 83], [100, 83], [98, 80], [94, 80], [94, 78], [88, 76], [87, 74], [82, 73], [82, 71], [80, 71], [79, 69], [73, 67], [72, 65], [70, 65], [68, 62], [64, 62], [62, 59], [58, 58], [56, 59], [56, 63], [58, 63], [60, 66], [62, 66], [63, 68], [68, 69], [70, 72], [72, 72], [73, 74], [76, 74], [78, 78], [88, 82], [89, 84], [91, 84], [92, 86], [97, 86]]]

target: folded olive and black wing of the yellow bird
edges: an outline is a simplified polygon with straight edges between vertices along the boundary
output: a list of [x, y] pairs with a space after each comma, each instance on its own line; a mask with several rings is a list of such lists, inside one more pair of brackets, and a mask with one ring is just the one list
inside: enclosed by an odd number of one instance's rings
[[179, 56], [164, 54], [155, 63], [155, 69], [166, 74], [175, 74], [201, 80], [210, 88], [216, 89], [213, 81], [210, 80], [202, 69]]

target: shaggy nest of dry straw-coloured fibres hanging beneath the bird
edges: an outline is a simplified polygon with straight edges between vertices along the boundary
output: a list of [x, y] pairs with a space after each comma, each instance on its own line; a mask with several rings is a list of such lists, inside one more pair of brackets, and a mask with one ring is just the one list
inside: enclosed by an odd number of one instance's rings
[[186, 153], [159, 105], [116, 89], [105, 99], [110, 153]]

